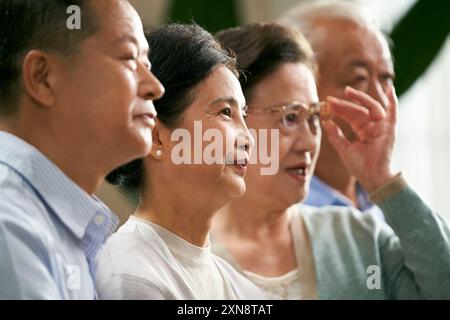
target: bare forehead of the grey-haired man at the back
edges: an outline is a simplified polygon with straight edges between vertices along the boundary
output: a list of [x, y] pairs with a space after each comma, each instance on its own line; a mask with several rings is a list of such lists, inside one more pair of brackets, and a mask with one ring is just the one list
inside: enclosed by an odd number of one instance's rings
[[316, 50], [322, 67], [338, 69], [355, 61], [372, 67], [392, 67], [387, 40], [373, 27], [343, 18], [317, 19], [314, 25], [320, 29]]

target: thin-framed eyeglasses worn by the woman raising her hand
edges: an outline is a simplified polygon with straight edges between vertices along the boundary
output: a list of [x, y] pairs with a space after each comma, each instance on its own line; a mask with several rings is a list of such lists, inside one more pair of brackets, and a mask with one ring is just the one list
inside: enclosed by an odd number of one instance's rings
[[292, 101], [282, 105], [275, 105], [266, 108], [254, 108], [250, 106], [248, 114], [270, 114], [278, 116], [278, 128], [285, 134], [297, 131], [303, 124], [308, 124], [309, 130], [313, 134], [319, 132], [320, 117], [328, 115], [327, 102], [321, 101], [310, 105]]

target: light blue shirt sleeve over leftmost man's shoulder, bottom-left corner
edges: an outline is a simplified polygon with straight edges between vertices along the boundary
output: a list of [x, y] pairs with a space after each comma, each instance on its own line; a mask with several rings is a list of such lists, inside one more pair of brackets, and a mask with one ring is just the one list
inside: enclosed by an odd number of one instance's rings
[[51, 272], [53, 228], [42, 202], [20, 176], [0, 166], [0, 297], [60, 298]]

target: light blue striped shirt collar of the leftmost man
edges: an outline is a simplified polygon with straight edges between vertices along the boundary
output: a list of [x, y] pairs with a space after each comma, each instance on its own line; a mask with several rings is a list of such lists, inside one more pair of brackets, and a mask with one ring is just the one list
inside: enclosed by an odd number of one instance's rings
[[84, 237], [98, 214], [109, 218], [105, 224], [108, 231], [117, 225], [118, 218], [98, 198], [82, 190], [35, 147], [3, 131], [0, 162], [25, 179], [77, 238]]

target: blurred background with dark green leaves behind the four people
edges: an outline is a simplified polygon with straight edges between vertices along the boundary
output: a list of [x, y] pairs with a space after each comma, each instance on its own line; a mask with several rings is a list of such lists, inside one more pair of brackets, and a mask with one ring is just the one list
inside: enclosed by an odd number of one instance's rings
[[[130, 0], [145, 25], [192, 22], [215, 32], [274, 20], [299, 2], [314, 0]], [[450, 1], [353, 1], [373, 10], [393, 39], [400, 97], [394, 168], [450, 221]], [[123, 223], [134, 204], [106, 183], [97, 195]]]

